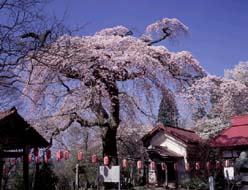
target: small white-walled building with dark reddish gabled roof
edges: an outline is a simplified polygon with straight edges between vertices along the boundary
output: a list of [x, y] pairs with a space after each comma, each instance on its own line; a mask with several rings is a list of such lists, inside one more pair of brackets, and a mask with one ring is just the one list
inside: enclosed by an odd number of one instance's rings
[[[142, 138], [149, 158], [156, 163], [150, 183], [158, 186], [178, 184], [188, 177], [186, 163], [201, 161], [203, 140], [191, 130], [159, 124]], [[161, 163], [166, 164], [163, 171]]]

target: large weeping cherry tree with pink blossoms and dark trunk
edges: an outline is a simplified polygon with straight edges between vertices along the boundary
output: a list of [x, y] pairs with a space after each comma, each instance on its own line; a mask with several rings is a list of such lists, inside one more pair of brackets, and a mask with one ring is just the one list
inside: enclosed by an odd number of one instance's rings
[[154, 105], [168, 85], [180, 90], [205, 76], [189, 52], [155, 46], [187, 32], [179, 20], [164, 18], [149, 25], [140, 38], [124, 26], [91, 36], [61, 36], [26, 57], [23, 93], [36, 102], [34, 112], [42, 110], [50, 117], [53, 124], [43, 126], [50, 136], [75, 122], [98, 127], [103, 155], [117, 163], [116, 135], [122, 120], [156, 118]]

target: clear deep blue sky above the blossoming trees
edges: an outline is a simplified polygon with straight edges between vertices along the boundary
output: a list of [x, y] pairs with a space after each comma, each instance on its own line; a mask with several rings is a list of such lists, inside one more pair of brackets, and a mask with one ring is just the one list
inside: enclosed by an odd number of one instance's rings
[[163, 44], [171, 51], [187, 50], [211, 74], [223, 75], [239, 61], [248, 60], [247, 0], [54, 0], [50, 13], [71, 26], [87, 25], [80, 35], [90, 35], [124, 25], [141, 35], [161, 18], [178, 18], [190, 29], [177, 44]]

